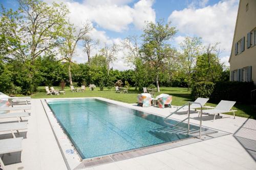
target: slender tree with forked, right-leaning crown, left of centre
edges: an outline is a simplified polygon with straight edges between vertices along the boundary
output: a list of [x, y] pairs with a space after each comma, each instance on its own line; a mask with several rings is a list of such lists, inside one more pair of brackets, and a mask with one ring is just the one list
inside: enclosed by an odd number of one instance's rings
[[[71, 75], [71, 64], [73, 63], [74, 53], [77, 44], [80, 40], [86, 38], [87, 34], [93, 29], [91, 23], [87, 22], [83, 25], [81, 29], [77, 29], [72, 24], [69, 23], [68, 27], [65, 28], [63, 32], [63, 38], [65, 39], [61, 47], [61, 52], [64, 57], [61, 60], [66, 60], [69, 67], [69, 81], [70, 85], [73, 85], [72, 75]], [[76, 31], [78, 30], [78, 31]]]

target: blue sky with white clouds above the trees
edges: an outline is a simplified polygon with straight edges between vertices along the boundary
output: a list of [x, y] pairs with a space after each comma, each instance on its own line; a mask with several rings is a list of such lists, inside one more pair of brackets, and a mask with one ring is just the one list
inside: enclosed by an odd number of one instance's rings
[[[51, 4], [52, 0], [44, 0]], [[6, 8], [17, 9], [14, 0], [0, 0]], [[185, 36], [200, 36], [203, 44], [220, 42], [221, 61], [227, 65], [233, 38], [234, 25], [239, 0], [56, 0], [64, 3], [70, 10], [70, 21], [80, 27], [89, 20], [95, 26], [91, 36], [99, 39], [101, 44], [120, 43], [129, 35], [141, 35], [144, 21], [157, 21], [161, 18], [172, 21], [178, 33], [171, 41], [179, 47]], [[116, 69], [129, 69], [123, 57], [124, 52], [117, 55]], [[77, 48], [75, 60], [87, 61], [82, 47]]]

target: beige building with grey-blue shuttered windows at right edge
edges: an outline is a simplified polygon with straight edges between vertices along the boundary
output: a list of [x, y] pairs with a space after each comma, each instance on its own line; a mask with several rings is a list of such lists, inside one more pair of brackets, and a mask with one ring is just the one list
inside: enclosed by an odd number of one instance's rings
[[256, 0], [240, 0], [232, 43], [230, 81], [256, 83]]

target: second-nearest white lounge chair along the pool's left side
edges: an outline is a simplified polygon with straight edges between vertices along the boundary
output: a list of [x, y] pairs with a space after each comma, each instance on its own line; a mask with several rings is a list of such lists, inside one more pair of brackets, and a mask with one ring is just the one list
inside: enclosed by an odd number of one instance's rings
[[27, 124], [27, 122], [0, 124], [0, 132], [11, 132], [13, 138], [16, 138], [13, 131], [28, 129]]

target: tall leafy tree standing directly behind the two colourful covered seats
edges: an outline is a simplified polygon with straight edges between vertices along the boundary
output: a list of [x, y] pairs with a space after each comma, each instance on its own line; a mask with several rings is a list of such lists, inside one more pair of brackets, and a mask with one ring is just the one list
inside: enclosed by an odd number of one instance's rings
[[143, 44], [141, 47], [142, 58], [145, 61], [150, 62], [155, 71], [155, 81], [157, 85], [157, 91], [159, 88], [159, 74], [160, 69], [163, 67], [164, 59], [167, 57], [170, 51], [170, 45], [167, 41], [170, 40], [176, 34], [176, 28], [170, 26], [170, 22], [164, 24], [163, 19], [157, 21], [157, 23], [149, 22], [142, 34]]

